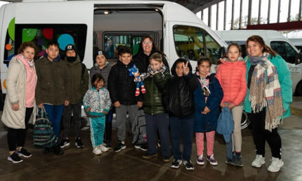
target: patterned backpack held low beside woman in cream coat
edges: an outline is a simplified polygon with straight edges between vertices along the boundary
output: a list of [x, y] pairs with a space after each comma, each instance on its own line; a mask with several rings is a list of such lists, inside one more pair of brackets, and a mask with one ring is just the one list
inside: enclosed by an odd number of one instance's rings
[[58, 139], [44, 108], [38, 109], [33, 136], [35, 147], [52, 147]]

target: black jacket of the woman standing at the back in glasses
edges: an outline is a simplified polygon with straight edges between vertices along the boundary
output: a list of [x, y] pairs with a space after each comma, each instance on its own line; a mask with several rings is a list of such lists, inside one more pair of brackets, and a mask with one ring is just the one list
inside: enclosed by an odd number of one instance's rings
[[[135, 62], [135, 64], [137, 65], [137, 68], [139, 69], [140, 73], [148, 72], [148, 65], [150, 64], [149, 59], [153, 53], [159, 53], [159, 52], [157, 52], [153, 48], [149, 56], [143, 53], [143, 51], [140, 51], [133, 57], [133, 62]], [[165, 64], [165, 67], [169, 69], [169, 64], [167, 63], [167, 59], [165, 59], [165, 56], [163, 56], [163, 64]]]

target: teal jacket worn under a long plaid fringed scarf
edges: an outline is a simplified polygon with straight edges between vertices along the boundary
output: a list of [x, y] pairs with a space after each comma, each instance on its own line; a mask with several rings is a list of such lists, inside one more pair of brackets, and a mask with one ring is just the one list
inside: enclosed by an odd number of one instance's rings
[[[248, 71], [251, 68], [251, 63], [248, 60], [248, 56], [244, 58], [246, 62], [246, 82], [248, 82]], [[281, 86], [281, 95], [283, 101], [283, 110], [286, 112], [283, 113], [283, 118], [290, 117], [290, 103], [292, 103], [292, 79], [290, 77], [290, 69], [288, 69], [288, 65], [286, 61], [281, 58], [281, 56], [277, 55], [272, 57], [268, 56], [268, 60], [274, 64], [278, 72], [279, 83]], [[266, 73], [267, 74], [267, 73]], [[245, 112], [252, 112], [251, 101], [248, 99], [250, 95], [250, 89], [246, 93], [246, 98], [244, 101], [244, 110]]]

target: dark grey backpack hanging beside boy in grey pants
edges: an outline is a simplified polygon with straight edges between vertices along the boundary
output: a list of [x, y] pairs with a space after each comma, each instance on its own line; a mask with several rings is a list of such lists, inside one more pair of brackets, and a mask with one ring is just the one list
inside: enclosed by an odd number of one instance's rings
[[139, 110], [132, 124], [132, 144], [144, 143], [147, 143], [145, 113], [143, 110]]

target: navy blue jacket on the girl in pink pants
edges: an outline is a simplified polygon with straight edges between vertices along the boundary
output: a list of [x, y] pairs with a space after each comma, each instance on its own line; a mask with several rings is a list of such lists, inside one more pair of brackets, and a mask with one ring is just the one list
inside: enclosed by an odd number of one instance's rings
[[[196, 76], [196, 79], [199, 77], [196, 74], [193, 76]], [[205, 96], [203, 95], [199, 81], [198, 87], [194, 91], [195, 132], [211, 132], [217, 128], [217, 121], [220, 114], [220, 102], [222, 101], [223, 91], [218, 79], [215, 77], [215, 74], [211, 74], [209, 77], [212, 85], [209, 85], [211, 95], [209, 95], [207, 98], [207, 104], [205, 103]], [[205, 109], [205, 106], [207, 106], [211, 111], [207, 114], [202, 114], [201, 112]]]

